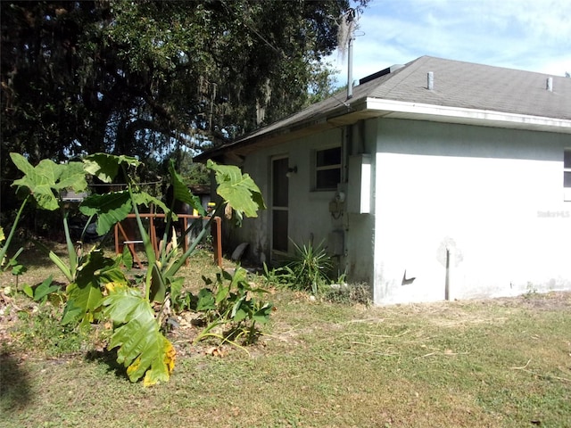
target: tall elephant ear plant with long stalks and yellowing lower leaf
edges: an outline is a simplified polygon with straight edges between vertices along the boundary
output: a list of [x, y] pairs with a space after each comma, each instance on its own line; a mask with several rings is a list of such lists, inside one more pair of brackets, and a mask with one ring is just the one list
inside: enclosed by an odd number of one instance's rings
[[[123, 170], [123, 176], [129, 177], [128, 168], [137, 167], [138, 162], [132, 158], [96, 154], [87, 157], [86, 170], [105, 182], [111, 182], [114, 175]], [[161, 240], [159, 254], [155, 254], [151, 239], [139, 214], [138, 206], [154, 203], [166, 213], [167, 225], [174, 219], [172, 210], [148, 193], [137, 189], [135, 183], [128, 179], [125, 193], [108, 193], [105, 199], [92, 203], [87, 200], [80, 210], [84, 214], [97, 215], [97, 232], [106, 233], [109, 227], [126, 218], [131, 210], [135, 213], [139, 234], [145, 247], [148, 269], [145, 276], [144, 290], [132, 287], [120, 278], [111, 278], [106, 285], [108, 296], [103, 299], [103, 314], [114, 323], [109, 348], [118, 348], [118, 362], [127, 366], [127, 373], [132, 381], [143, 375], [144, 384], [167, 381], [174, 367], [175, 351], [172, 344], [161, 333], [161, 314], [155, 314], [153, 302], [164, 306], [173, 292], [178, 292], [181, 281], [176, 278], [178, 270], [185, 265], [186, 259], [194, 252], [196, 245], [210, 230], [211, 221], [219, 212], [231, 207], [240, 217], [257, 216], [257, 210], [265, 208], [261, 192], [247, 174], [233, 166], [220, 166], [209, 161], [207, 167], [216, 174], [218, 193], [222, 197], [217, 210], [208, 221], [202, 223], [202, 230], [189, 248], [178, 256], [176, 245], [167, 244], [167, 231]], [[170, 185], [178, 201], [186, 202], [195, 210], [204, 214], [203, 207], [197, 198], [189, 192], [181, 177], [170, 164]], [[169, 227], [165, 229], [168, 230]]]

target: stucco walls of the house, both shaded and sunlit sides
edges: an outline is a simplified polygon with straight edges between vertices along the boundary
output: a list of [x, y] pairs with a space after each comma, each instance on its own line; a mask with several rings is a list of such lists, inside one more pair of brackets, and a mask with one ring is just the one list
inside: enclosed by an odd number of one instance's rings
[[[311, 153], [339, 142], [347, 156], [372, 154], [368, 214], [333, 218], [335, 192], [311, 191]], [[327, 244], [342, 230], [339, 268], [350, 282], [370, 284], [377, 304], [443, 300], [447, 248], [455, 258], [450, 297], [468, 299], [571, 289], [571, 202], [563, 202], [570, 147], [564, 134], [368, 119], [352, 137], [335, 128], [262, 148], [244, 171], [270, 205], [271, 160], [288, 156], [298, 168], [289, 178], [290, 237]], [[251, 259], [269, 261], [270, 227], [271, 211], [261, 211], [232, 240], [250, 243]]]

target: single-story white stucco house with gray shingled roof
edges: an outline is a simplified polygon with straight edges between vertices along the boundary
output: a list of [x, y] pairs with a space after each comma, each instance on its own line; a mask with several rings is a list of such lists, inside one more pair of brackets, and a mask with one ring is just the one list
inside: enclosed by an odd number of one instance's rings
[[323, 242], [376, 304], [571, 290], [571, 78], [423, 56], [207, 158], [260, 186], [228, 233], [259, 262]]

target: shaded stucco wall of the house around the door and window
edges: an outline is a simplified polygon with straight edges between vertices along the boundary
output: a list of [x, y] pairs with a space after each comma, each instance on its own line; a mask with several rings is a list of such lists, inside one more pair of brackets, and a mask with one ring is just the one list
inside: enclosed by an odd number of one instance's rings
[[[295, 243], [306, 244], [313, 239], [316, 245], [328, 245], [329, 234], [333, 231], [343, 233], [343, 256], [335, 257], [336, 274], [346, 273], [346, 279], [352, 283], [372, 284], [374, 216], [343, 212], [335, 218], [329, 212], [329, 202], [335, 198], [335, 191], [314, 192], [311, 190], [312, 152], [330, 144], [343, 144], [346, 155], [359, 152], [372, 153], [377, 143], [377, 121], [368, 120], [366, 126], [353, 129], [352, 144], [347, 144], [347, 129], [335, 128], [315, 136], [305, 136], [290, 143], [261, 149], [248, 155], [244, 161], [244, 172], [250, 174], [267, 205], [271, 205], [271, 161], [275, 157], [289, 157], [289, 165], [297, 166], [297, 173], [289, 178], [289, 236]], [[349, 147], [349, 146], [352, 147]], [[371, 156], [374, 164], [375, 157]], [[343, 176], [346, 175], [343, 161]], [[374, 169], [374, 165], [372, 166]], [[374, 188], [369, 186], [371, 209], [374, 209]], [[352, 189], [345, 187], [345, 192]], [[227, 239], [230, 245], [250, 243], [247, 255], [257, 262], [271, 259], [271, 210], [263, 210], [258, 218], [245, 218], [241, 228], [227, 227]], [[294, 247], [290, 243], [290, 253]], [[335, 278], [332, 278], [335, 279]]]

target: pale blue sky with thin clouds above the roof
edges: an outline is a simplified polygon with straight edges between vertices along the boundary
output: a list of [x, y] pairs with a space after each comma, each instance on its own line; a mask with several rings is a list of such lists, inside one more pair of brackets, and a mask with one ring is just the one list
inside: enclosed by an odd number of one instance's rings
[[[430, 55], [571, 73], [571, 0], [371, 0], [353, 41], [353, 80]], [[347, 58], [327, 59], [347, 83]]]

